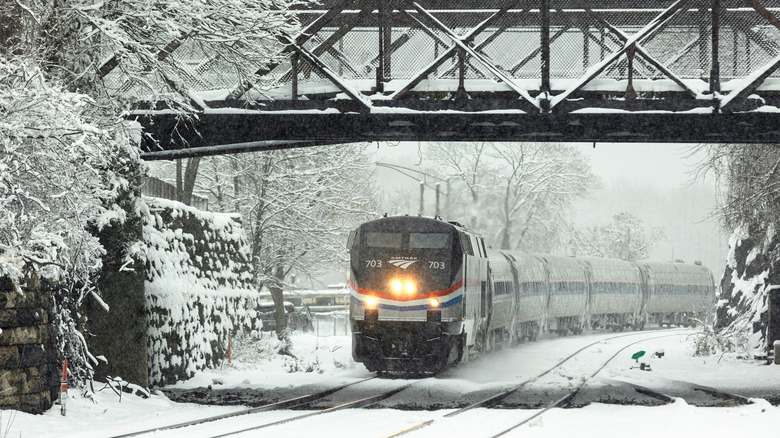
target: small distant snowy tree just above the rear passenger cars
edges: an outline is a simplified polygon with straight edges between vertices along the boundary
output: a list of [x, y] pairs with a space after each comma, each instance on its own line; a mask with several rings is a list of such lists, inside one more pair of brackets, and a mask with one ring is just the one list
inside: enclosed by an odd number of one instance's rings
[[645, 234], [641, 219], [628, 212], [612, 216], [612, 222], [571, 233], [577, 255], [608, 257], [622, 260], [646, 259], [653, 244], [664, 238], [663, 230]]

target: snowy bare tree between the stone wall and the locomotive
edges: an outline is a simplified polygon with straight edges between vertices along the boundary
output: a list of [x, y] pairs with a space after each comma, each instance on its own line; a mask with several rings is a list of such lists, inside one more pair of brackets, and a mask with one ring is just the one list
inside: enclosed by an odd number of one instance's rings
[[313, 277], [343, 263], [346, 235], [371, 213], [368, 157], [363, 144], [325, 146], [258, 154], [259, 166], [245, 168], [239, 196], [255, 279], [271, 291], [280, 336], [289, 274]]

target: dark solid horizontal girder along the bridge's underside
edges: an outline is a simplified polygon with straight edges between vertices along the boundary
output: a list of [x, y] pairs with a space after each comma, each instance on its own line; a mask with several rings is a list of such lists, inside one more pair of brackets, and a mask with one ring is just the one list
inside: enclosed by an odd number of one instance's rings
[[[777, 143], [780, 118], [773, 113], [211, 113], [183, 130], [176, 116], [155, 116], [162, 142], [190, 138], [183, 149], [159, 158], [214, 155], [373, 141]], [[197, 130], [188, 132], [189, 129]], [[236, 139], [270, 139], [236, 142]], [[219, 146], [214, 146], [219, 145]], [[148, 158], [153, 159], [153, 156]]]

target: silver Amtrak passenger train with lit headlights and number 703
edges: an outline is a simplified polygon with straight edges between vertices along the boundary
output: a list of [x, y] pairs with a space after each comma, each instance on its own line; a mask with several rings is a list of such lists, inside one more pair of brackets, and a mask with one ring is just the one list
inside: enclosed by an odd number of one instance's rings
[[437, 374], [542, 332], [689, 326], [715, 305], [700, 263], [494, 250], [438, 217], [368, 221], [347, 247], [352, 356], [379, 375]]

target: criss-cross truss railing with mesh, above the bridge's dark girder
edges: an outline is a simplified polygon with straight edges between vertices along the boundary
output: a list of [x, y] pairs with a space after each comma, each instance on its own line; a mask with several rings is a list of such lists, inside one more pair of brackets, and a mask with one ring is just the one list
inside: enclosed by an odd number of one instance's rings
[[[380, 89], [386, 95], [415, 78], [414, 91], [429, 95], [459, 87], [466, 92], [510, 91], [506, 78], [518, 80], [531, 94], [542, 92], [546, 80], [552, 91], [562, 91], [616, 54], [583, 88], [625, 91], [626, 82], [650, 82], [635, 88], [681, 91], [675, 81], [682, 80], [693, 90], [706, 91], [713, 82], [749, 78], [780, 54], [778, 0], [618, 3], [325, 0], [296, 11], [304, 33], [291, 37], [301, 42], [276, 43], [289, 56], [257, 77], [263, 93], [253, 96], [333, 94], [342, 91], [339, 81], [360, 92]], [[320, 23], [333, 10], [340, 12]], [[219, 53], [195, 38], [185, 39], [168, 59], [170, 75], [197, 91], [234, 89], [253, 76], [253, 66], [246, 71], [226, 68]], [[719, 68], [713, 71], [714, 66]], [[120, 69], [109, 75], [117, 92], [148, 93], [148, 83], [141, 86], [121, 75]], [[778, 73], [768, 76], [778, 78]], [[459, 84], [461, 79], [468, 86]], [[618, 87], [615, 81], [623, 83]], [[297, 95], [291, 94], [293, 87]]]

